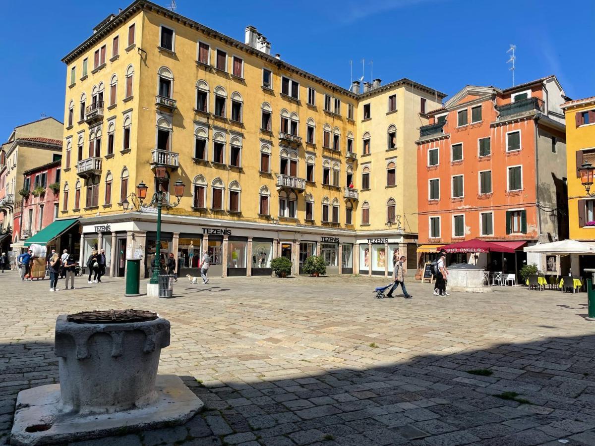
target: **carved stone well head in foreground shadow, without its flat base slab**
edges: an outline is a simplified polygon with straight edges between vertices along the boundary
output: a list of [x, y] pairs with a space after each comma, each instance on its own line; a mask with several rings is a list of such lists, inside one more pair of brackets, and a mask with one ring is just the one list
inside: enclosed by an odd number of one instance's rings
[[143, 310], [60, 315], [55, 353], [65, 412], [111, 413], [144, 407], [156, 398], [161, 348], [170, 322]]

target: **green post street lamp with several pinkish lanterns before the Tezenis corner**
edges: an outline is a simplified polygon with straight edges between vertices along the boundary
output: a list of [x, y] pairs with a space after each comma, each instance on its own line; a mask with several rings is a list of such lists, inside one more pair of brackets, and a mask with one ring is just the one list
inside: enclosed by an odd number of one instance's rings
[[[153, 194], [151, 198], [151, 202], [147, 203], [146, 205], [143, 204], [143, 201], [146, 199], [147, 190], [149, 187], [141, 181], [138, 186], [136, 186], [136, 196], [140, 202], [140, 208], [157, 208], [157, 237], [155, 240], [155, 262], [153, 265], [153, 275], [151, 276], [151, 280], [149, 281], [150, 284], [156, 285], [159, 283], [159, 255], [161, 252], [161, 207], [167, 206], [168, 208], [175, 208], [177, 205], [180, 204], [181, 197], [184, 196], [184, 183], [180, 180], [177, 180], [174, 183], [174, 194], [178, 199], [176, 203], [170, 203], [167, 200], [167, 195], [165, 191], [161, 189], [161, 184], [167, 180], [167, 170], [165, 166], [158, 165], [155, 167], [155, 180], [157, 180], [157, 190]], [[124, 204], [124, 203], [122, 203]]]

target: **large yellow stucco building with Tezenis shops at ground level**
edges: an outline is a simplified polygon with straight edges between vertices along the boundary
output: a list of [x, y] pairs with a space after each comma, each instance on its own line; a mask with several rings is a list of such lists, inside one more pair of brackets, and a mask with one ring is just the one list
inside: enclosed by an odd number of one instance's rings
[[224, 277], [270, 275], [281, 255], [297, 273], [313, 253], [330, 274], [384, 275], [389, 250], [414, 252], [415, 134], [445, 95], [407, 79], [343, 89], [270, 48], [254, 27], [239, 42], [138, 0], [64, 57], [60, 213], [80, 218], [81, 260], [100, 246], [112, 275], [130, 256], [149, 275], [156, 215], [131, 193], [155, 190], [156, 165], [168, 191], [186, 185], [162, 220], [179, 274], [205, 249]]

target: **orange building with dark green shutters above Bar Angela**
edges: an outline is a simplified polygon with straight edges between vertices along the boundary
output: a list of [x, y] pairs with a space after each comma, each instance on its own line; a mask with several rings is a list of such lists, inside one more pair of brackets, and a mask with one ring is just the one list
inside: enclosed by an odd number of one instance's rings
[[527, 258], [522, 247], [566, 238], [565, 98], [549, 76], [504, 90], [466, 86], [428, 113], [416, 142], [420, 265], [440, 246], [479, 238], [505, 249], [453, 249], [449, 263], [559, 273], [559, 259]]

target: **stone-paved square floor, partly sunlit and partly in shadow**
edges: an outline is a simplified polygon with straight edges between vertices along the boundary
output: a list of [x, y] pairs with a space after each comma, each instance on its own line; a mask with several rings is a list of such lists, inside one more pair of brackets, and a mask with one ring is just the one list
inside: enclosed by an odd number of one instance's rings
[[77, 281], [49, 293], [47, 280], [0, 275], [0, 443], [18, 391], [57, 382], [57, 315], [134, 307], [171, 321], [159, 372], [181, 376], [206, 410], [77, 445], [595, 444], [585, 293], [440, 298], [410, 281], [414, 299], [377, 300], [384, 278], [212, 278], [148, 299], [123, 297], [122, 279]]

